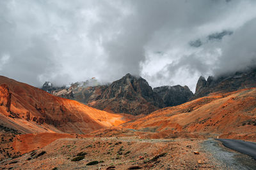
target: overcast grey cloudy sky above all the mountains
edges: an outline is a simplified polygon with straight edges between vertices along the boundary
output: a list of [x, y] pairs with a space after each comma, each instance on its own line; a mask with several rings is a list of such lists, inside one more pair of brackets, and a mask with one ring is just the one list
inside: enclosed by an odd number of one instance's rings
[[255, 0], [2, 0], [0, 75], [41, 87], [126, 73], [152, 87], [256, 63]]

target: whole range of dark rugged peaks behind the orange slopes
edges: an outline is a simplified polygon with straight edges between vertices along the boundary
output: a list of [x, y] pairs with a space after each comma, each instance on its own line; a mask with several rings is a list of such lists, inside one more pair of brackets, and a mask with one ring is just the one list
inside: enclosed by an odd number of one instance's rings
[[[43, 90], [54, 96], [73, 99], [99, 110], [111, 113], [128, 113], [131, 115], [148, 115], [160, 108], [178, 106], [179, 104], [204, 97], [211, 92], [232, 92], [239, 89], [256, 87], [256, 70], [209, 76], [207, 81], [200, 77], [195, 94], [188, 86], [163, 86], [152, 89], [148, 82], [126, 74], [120, 80], [108, 85], [100, 85], [93, 78], [85, 82], [72, 83], [70, 87], [54, 87], [46, 81]], [[93, 86], [92, 86], [93, 85]]]

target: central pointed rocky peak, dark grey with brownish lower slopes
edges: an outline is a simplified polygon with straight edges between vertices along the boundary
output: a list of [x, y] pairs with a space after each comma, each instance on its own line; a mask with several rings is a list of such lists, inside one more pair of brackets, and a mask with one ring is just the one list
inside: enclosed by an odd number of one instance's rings
[[98, 98], [88, 105], [115, 113], [148, 114], [164, 106], [145, 79], [131, 74], [111, 83]]

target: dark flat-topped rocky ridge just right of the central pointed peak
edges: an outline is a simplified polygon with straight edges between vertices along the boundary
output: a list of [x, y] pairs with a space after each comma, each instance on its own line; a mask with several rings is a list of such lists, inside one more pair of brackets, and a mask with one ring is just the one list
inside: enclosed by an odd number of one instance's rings
[[163, 86], [156, 87], [153, 90], [163, 99], [165, 107], [186, 103], [193, 96], [193, 92], [189, 90], [188, 86]]

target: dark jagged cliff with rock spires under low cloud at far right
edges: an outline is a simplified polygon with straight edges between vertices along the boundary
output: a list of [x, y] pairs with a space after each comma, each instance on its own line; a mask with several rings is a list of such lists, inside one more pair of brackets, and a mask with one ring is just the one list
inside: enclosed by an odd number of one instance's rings
[[195, 96], [191, 99], [207, 96], [211, 92], [232, 92], [251, 87], [256, 87], [256, 69], [216, 77], [209, 76], [207, 80], [201, 76], [196, 84]]

